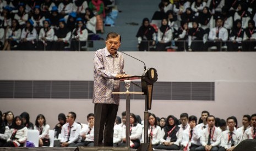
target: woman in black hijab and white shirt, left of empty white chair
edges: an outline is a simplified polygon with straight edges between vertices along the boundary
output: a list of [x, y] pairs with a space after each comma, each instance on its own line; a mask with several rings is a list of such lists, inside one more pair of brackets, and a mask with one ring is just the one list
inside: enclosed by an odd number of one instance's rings
[[23, 147], [28, 138], [28, 128], [23, 124], [20, 116], [14, 118], [10, 133], [11, 135], [4, 147]]

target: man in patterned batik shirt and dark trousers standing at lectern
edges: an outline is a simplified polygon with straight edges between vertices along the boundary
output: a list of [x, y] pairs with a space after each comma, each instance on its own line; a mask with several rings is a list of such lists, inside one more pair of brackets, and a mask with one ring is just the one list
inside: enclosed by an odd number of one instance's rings
[[[106, 47], [95, 52], [94, 56], [94, 146], [113, 146], [113, 127], [119, 106], [119, 80], [122, 78], [124, 59], [117, 52], [121, 45], [121, 36], [118, 33], [107, 34]], [[102, 142], [103, 141], [103, 142]]]

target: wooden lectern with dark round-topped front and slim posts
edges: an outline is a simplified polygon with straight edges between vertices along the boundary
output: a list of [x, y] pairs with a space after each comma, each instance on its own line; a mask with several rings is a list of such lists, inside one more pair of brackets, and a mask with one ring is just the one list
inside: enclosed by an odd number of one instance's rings
[[[158, 79], [158, 75], [156, 73], [155, 68], [145, 69], [143, 75], [134, 75], [130, 77], [119, 78], [120, 80], [134, 80], [134, 79], [141, 79], [141, 89], [142, 92], [113, 92], [113, 94], [126, 94], [126, 119], [129, 119], [130, 115], [130, 94], [144, 94], [145, 95], [145, 112], [144, 112], [144, 143], [141, 143], [140, 147], [137, 150], [153, 150], [151, 145], [151, 137], [148, 137], [148, 119], [149, 119], [149, 112], [148, 110], [151, 109], [152, 104], [152, 92], [153, 92], [153, 85]], [[129, 120], [126, 120], [126, 146], [130, 146], [130, 132], [128, 127], [130, 126]]]

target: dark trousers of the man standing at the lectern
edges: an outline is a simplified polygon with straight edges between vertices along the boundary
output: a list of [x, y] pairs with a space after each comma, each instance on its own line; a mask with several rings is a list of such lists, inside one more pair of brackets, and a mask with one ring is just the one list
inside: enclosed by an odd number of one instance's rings
[[117, 104], [94, 104], [94, 146], [113, 146], [117, 111]]

